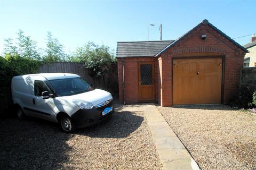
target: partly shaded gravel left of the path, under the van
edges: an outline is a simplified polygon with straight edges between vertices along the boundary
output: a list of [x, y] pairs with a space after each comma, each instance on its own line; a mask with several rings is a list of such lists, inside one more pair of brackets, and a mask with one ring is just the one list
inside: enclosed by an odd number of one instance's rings
[[1, 169], [162, 169], [142, 112], [116, 112], [74, 134], [36, 118], [0, 123]]

